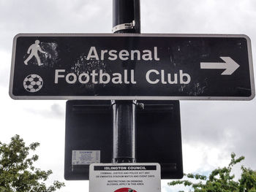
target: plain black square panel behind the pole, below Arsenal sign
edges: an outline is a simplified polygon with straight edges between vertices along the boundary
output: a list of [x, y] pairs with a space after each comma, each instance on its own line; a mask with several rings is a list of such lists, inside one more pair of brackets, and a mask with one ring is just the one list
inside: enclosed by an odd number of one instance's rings
[[[162, 179], [183, 177], [179, 101], [138, 101], [136, 162], [158, 163]], [[110, 101], [67, 101], [65, 180], [89, 180], [90, 164], [113, 160]]]

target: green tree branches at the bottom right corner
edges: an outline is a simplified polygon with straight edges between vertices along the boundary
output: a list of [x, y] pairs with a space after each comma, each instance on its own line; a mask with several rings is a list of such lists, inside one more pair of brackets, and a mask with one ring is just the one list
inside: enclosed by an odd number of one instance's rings
[[241, 179], [234, 180], [235, 175], [231, 174], [233, 166], [244, 160], [244, 156], [236, 158], [231, 154], [231, 161], [228, 166], [214, 169], [206, 177], [200, 174], [185, 174], [188, 180], [175, 180], [168, 185], [190, 186], [194, 192], [256, 192], [256, 172], [252, 169], [241, 166]]

